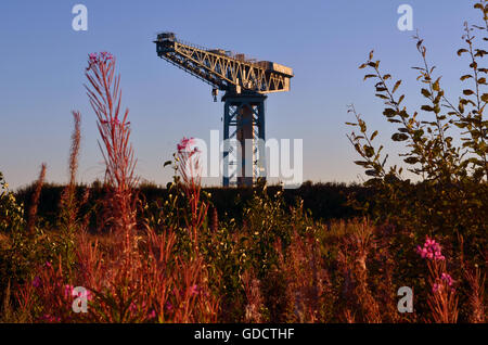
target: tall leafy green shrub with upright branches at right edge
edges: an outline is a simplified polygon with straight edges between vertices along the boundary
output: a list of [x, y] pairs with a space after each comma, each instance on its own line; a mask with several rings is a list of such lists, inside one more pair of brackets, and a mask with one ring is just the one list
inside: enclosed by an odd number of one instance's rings
[[[399, 166], [386, 165], [383, 145], [374, 144], [378, 131], [370, 131], [354, 106], [356, 127], [348, 138], [361, 156], [355, 162], [371, 177], [365, 184], [378, 193], [365, 206], [376, 222], [389, 222], [412, 231], [419, 242], [426, 235], [448, 241], [474, 264], [485, 268], [487, 261], [488, 219], [488, 104], [487, 74], [484, 65], [488, 52], [488, 2], [474, 8], [481, 13], [481, 25], [464, 25], [463, 46], [458, 55], [467, 60], [467, 73], [460, 77], [463, 91], [454, 103], [445, 90], [441, 77], [427, 59], [423, 39], [414, 37], [421, 58], [419, 93], [424, 103], [408, 108], [400, 94], [401, 80], [381, 71], [373, 52], [360, 68], [368, 68], [364, 80], [375, 80], [375, 95], [384, 103], [383, 116], [396, 127], [393, 142], [404, 145], [400, 157], [415, 180]], [[479, 47], [478, 47], [479, 46]]]

